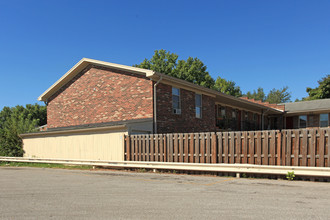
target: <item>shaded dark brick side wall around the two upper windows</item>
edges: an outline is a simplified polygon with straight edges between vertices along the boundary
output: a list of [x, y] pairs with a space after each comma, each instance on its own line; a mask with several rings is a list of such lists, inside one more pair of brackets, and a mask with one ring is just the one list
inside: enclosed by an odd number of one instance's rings
[[195, 115], [195, 92], [180, 89], [181, 114], [172, 110], [172, 86], [157, 85], [157, 132], [215, 131], [215, 100], [202, 95], [202, 118]]

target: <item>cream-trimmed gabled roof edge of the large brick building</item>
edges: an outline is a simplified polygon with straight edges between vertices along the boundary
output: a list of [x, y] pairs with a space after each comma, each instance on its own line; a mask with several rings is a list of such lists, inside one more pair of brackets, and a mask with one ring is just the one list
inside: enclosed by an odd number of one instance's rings
[[147, 69], [142, 69], [142, 68], [137, 68], [137, 67], [132, 67], [132, 66], [126, 66], [126, 65], [120, 65], [120, 64], [115, 64], [115, 63], [109, 63], [109, 62], [104, 62], [104, 61], [99, 61], [99, 60], [93, 60], [89, 58], [83, 58], [81, 59], [76, 65], [74, 65], [68, 72], [66, 72], [59, 80], [57, 80], [51, 87], [49, 87], [43, 94], [41, 94], [38, 98], [39, 101], [45, 101], [49, 99], [54, 93], [56, 93], [62, 86], [64, 86], [66, 83], [68, 83], [71, 79], [73, 79], [77, 74], [79, 74], [83, 69], [85, 69], [88, 65], [97, 65], [97, 66], [102, 66], [102, 67], [108, 67], [112, 69], [118, 69], [118, 70], [124, 70], [127, 72], [131, 73], [137, 73], [144, 75], [152, 80], [159, 80], [162, 78], [162, 83], [168, 83], [171, 85], [177, 85], [180, 88], [185, 88], [188, 90], [193, 90], [193, 91], [198, 91], [200, 93], [210, 95], [212, 97], [215, 97], [218, 100], [221, 100], [224, 103], [228, 103], [230, 105], [240, 105], [244, 108], [252, 108], [252, 109], [258, 109], [258, 110], [263, 110], [267, 111], [268, 113], [273, 113], [273, 114], [279, 114], [282, 113], [283, 111], [275, 109], [275, 108], [270, 108], [264, 105], [260, 105], [258, 103], [253, 103], [244, 99], [236, 98], [231, 95], [227, 95], [222, 92], [218, 92], [213, 89], [205, 88], [203, 86], [196, 85], [194, 83], [178, 79], [175, 77], [168, 76], [166, 74], [162, 73], [157, 73], [152, 70], [147, 70]]

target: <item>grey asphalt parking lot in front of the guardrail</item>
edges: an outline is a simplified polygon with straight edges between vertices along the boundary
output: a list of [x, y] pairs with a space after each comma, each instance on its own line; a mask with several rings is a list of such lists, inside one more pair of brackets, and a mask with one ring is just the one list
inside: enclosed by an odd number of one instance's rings
[[1, 219], [330, 219], [330, 183], [0, 167]]

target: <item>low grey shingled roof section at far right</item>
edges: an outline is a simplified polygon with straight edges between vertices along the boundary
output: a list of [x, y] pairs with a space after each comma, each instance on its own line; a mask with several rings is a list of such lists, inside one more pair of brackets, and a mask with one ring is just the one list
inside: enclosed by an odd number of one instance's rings
[[287, 113], [330, 110], [330, 99], [284, 103]]

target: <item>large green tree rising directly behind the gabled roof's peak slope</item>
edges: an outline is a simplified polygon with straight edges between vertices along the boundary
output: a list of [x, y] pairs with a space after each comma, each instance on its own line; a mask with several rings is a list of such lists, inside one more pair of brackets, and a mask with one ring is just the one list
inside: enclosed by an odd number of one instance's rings
[[187, 60], [178, 60], [178, 55], [166, 50], [156, 50], [150, 60], [134, 65], [155, 72], [164, 73], [204, 87], [213, 88], [214, 79], [207, 72], [207, 67], [198, 58], [189, 57]]

